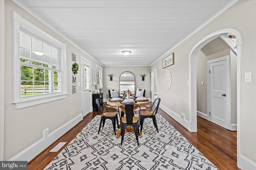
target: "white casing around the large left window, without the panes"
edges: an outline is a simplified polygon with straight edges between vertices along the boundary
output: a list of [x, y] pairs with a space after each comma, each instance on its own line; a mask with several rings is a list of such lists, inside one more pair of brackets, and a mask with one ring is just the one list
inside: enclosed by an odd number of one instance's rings
[[[12, 103], [16, 105], [18, 109], [23, 107], [34, 106], [46, 102], [52, 102], [67, 97], [67, 68], [66, 68], [66, 44], [58, 41], [51, 35], [42, 31], [29, 21], [22, 18], [16, 12], [12, 13], [13, 20], [13, 94]], [[61, 91], [59, 93], [44, 94], [38, 96], [29, 96], [22, 98], [20, 96], [20, 30], [25, 31], [33, 37], [36, 37], [45, 43], [54, 45], [60, 50], [59, 53], [59, 68], [61, 79]]]

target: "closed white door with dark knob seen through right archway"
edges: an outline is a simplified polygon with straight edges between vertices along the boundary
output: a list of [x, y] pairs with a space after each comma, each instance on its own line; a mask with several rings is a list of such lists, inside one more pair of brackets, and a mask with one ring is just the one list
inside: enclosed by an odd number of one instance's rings
[[221, 57], [208, 61], [208, 85], [210, 87], [208, 110], [210, 110], [210, 121], [226, 129], [230, 129], [230, 71], [228, 59]]

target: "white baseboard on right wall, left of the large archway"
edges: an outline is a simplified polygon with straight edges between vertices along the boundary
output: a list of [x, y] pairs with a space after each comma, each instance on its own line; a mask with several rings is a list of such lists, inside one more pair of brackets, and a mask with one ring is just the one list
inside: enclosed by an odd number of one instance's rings
[[159, 104], [159, 107], [168, 115], [170, 115], [174, 120], [176, 120], [178, 123], [184, 126], [186, 129], [190, 129], [190, 121], [188, 121], [187, 119], [182, 119], [178, 113], [175, 113], [174, 111], [172, 111], [171, 109], [167, 108], [162, 104]]

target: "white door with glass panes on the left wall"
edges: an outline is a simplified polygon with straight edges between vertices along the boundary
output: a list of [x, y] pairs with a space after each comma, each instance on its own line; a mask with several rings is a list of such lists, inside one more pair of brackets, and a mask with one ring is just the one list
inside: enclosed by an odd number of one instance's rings
[[90, 62], [81, 57], [81, 107], [83, 117], [90, 112]]

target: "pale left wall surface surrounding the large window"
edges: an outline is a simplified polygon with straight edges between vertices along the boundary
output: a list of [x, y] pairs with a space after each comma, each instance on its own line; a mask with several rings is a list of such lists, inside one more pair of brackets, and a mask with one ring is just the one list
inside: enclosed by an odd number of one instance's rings
[[[12, 11], [20, 14], [22, 18], [30, 21], [46, 33], [50, 34], [59, 41], [67, 45], [67, 80], [68, 80], [68, 96], [62, 100], [39, 104], [36, 106], [25, 107], [16, 109], [12, 104]], [[86, 53], [72, 45], [69, 41], [46, 27], [43, 23], [36, 18], [25, 12], [22, 8], [17, 6], [11, 0], [5, 1], [5, 77], [4, 77], [4, 160], [13, 158], [24, 149], [31, 147], [38, 141], [44, 143], [42, 140], [42, 132], [44, 129], [49, 128], [49, 135], [55, 132], [55, 137], [65, 133], [67, 129], [62, 130], [60, 127], [65, 123], [75, 125], [80, 120], [81, 116], [81, 90], [78, 87], [76, 94], [72, 94], [72, 59], [71, 53], [76, 54], [76, 61], [80, 65], [80, 55], [91, 61], [92, 69], [96, 69], [96, 64], [92, 58], [88, 57]], [[1, 55], [2, 57], [2, 55]], [[80, 72], [76, 76], [77, 86], [80, 82]], [[2, 102], [2, 101], [1, 101]], [[56, 135], [56, 130], [58, 135]], [[48, 141], [49, 142], [49, 141]], [[51, 142], [51, 141], [50, 141]], [[52, 141], [53, 142], [53, 141]], [[34, 149], [34, 152], [41, 152], [42, 147]], [[36, 153], [33, 153], [36, 154]], [[31, 155], [33, 156], [33, 155]], [[36, 156], [36, 155], [34, 155]], [[27, 160], [28, 157], [18, 157], [19, 160]], [[13, 158], [15, 159], [15, 158]]]

